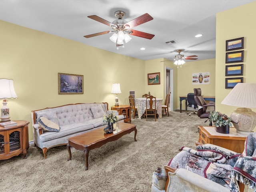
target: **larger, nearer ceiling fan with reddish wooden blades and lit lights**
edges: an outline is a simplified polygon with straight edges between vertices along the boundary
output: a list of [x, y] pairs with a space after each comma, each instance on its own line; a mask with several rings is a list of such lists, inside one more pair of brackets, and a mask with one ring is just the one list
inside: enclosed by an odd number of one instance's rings
[[141, 25], [143, 23], [146, 23], [150, 20], [153, 20], [152, 16], [150, 16], [148, 13], [145, 13], [129, 22], [123, 19], [125, 15], [125, 12], [123, 11], [116, 11], [115, 16], [118, 18], [117, 20], [114, 20], [112, 23], [100, 18], [99, 16], [96, 15], [91, 15], [88, 16], [88, 18], [91, 18], [93, 20], [96, 20], [100, 23], [103, 23], [105, 25], [108, 25], [112, 28], [112, 30], [109, 31], [104, 31], [104, 32], [99, 32], [99, 33], [94, 33], [90, 35], [84, 36], [85, 38], [90, 38], [98, 35], [103, 35], [103, 34], [113, 34], [110, 37], [110, 40], [112, 42], [116, 43], [116, 47], [118, 49], [118, 46], [123, 46], [124, 47], [124, 41], [127, 43], [128, 41], [131, 40], [131, 37], [128, 35], [133, 35], [133, 36], [138, 36], [146, 39], [152, 39], [155, 35], [141, 32], [141, 31], [136, 31], [133, 30], [132, 28]]

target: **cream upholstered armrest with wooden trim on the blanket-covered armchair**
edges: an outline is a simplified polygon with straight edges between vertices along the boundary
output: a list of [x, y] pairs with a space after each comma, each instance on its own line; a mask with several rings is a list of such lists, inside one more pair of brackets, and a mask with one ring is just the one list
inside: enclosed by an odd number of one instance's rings
[[230, 190], [216, 182], [206, 179], [198, 174], [183, 168], [174, 169], [165, 166], [168, 180], [166, 182], [166, 192], [179, 189], [181, 191], [209, 191], [209, 192], [229, 192]]

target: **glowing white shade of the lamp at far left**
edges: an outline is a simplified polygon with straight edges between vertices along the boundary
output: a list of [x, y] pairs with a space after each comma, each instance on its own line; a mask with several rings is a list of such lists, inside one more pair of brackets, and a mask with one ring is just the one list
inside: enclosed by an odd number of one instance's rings
[[0, 79], [0, 99], [16, 99], [18, 96], [15, 93], [12, 79]]

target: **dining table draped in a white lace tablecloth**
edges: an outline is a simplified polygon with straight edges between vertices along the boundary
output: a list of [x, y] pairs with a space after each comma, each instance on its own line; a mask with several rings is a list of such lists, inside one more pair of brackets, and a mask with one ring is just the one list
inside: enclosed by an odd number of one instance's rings
[[[156, 113], [158, 114], [158, 119], [162, 118], [162, 102], [163, 102], [163, 99], [156, 98]], [[145, 112], [146, 98], [136, 98], [135, 106], [137, 106], [138, 119], [140, 119]]]

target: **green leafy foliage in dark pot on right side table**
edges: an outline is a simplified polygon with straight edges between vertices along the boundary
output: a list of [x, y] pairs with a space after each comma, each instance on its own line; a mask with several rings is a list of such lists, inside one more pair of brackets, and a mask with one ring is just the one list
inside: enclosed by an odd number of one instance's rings
[[232, 119], [226, 116], [225, 114], [221, 114], [220, 112], [217, 112], [217, 111], [211, 111], [209, 119], [210, 119], [210, 123], [213, 122], [216, 127], [225, 126], [225, 125], [231, 126], [230, 122], [232, 121]]

